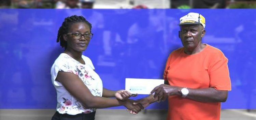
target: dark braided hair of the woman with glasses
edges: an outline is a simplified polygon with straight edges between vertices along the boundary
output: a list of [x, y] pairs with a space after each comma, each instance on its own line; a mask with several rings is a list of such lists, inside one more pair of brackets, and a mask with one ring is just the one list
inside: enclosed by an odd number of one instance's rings
[[57, 36], [57, 42], [60, 42], [60, 46], [63, 48], [65, 48], [65, 50], [67, 49], [67, 41], [64, 40], [63, 35], [68, 33], [68, 30], [70, 29], [71, 25], [73, 23], [77, 23], [77, 22], [84, 22], [86, 23], [90, 30], [91, 30], [91, 23], [88, 22], [83, 16], [70, 16], [65, 18], [65, 20], [62, 22], [61, 27], [59, 28], [58, 31], [58, 36]]

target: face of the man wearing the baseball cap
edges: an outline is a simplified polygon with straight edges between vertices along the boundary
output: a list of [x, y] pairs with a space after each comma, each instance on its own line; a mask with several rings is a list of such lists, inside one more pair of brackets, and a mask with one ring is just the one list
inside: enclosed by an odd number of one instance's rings
[[205, 34], [201, 24], [184, 24], [180, 25], [180, 29], [179, 35], [186, 49], [194, 49], [201, 44], [201, 39]]

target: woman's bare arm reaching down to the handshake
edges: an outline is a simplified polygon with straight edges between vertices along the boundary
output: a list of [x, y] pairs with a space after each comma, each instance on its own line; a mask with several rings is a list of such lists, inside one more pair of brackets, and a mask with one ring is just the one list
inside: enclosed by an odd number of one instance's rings
[[81, 79], [73, 73], [59, 71], [56, 80], [62, 83], [71, 95], [79, 100], [85, 107], [107, 108], [123, 105], [136, 112], [140, 112], [140, 110], [143, 109], [140, 105], [132, 105], [132, 100], [120, 101], [117, 99], [93, 96]]

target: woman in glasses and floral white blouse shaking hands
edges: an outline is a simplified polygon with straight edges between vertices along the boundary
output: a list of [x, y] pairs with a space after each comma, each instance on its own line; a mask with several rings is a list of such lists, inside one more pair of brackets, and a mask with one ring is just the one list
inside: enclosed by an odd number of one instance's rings
[[94, 120], [96, 108], [120, 105], [136, 113], [143, 109], [141, 104], [132, 105], [133, 100], [128, 99], [131, 93], [102, 87], [91, 60], [82, 55], [92, 37], [91, 24], [83, 16], [67, 17], [59, 28], [57, 42], [65, 51], [51, 68], [58, 102], [52, 120]]

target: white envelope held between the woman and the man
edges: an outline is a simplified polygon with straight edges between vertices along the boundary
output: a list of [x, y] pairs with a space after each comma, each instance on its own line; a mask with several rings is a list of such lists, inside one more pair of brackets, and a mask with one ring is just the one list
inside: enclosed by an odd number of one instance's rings
[[158, 85], [164, 84], [165, 80], [162, 79], [125, 79], [125, 90], [132, 94], [146, 94], [150, 92]]

